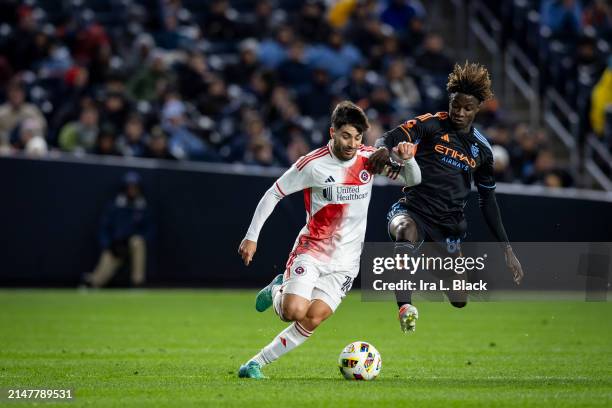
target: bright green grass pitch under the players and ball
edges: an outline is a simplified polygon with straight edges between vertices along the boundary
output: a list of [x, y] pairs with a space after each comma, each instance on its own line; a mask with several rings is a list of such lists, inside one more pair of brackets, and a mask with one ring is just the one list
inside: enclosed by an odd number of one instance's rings
[[[8, 388], [74, 390], [49, 406], [612, 406], [612, 304], [419, 303], [404, 335], [392, 303], [348, 296], [304, 345], [237, 378], [285, 324], [255, 291], [0, 291], [0, 405]], [[341, 349], [381, 352], [373, 382], [344, 380]], [[38, 403], [39, 406], [43, 403]]]

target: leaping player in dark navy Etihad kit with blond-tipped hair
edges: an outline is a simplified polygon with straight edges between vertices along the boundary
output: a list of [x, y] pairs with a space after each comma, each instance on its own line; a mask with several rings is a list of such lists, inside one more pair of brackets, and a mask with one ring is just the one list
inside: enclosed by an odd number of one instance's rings
[[[479, 205], [495, 238], [505, 244], [506, 264], [518, 285], [523, 278], [520, 262], [508, 242], [495, 198], [493, 153], [487, 139], [472, 125], [482, 103], [491, 98], [491, 80], [485, 67], [456, 64], [448, 77], [448, 112], [424, 114], [386, 132], [377, 142], [369, 165], [378, 173], [390, 162], [390, 152], [400, 142], [417, 145], [416, 160], [421, 184], [405, 189], [387, 216], [388, 230], [396, 250], [415, 251], [423, 242], [437, 242], [445, 252], [458, 256], [467, 222], [463, 213], [472, 182]], [[467, 303], [464, 292], [448, 292], [455, 307]], [[415, 328], [418, 311], [410, 292], [396, 292], [404, 332]]]

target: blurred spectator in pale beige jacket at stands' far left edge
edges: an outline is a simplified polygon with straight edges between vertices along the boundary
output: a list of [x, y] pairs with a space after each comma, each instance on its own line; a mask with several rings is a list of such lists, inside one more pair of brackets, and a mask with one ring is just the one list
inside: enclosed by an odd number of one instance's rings
[[26, 102], [23, 85], [14, 80], [9, 85], [7, 94], [7, 102], [0, 105], [0, 147], [9, 144], [11, 133], [26, 119], [34, 120], [44, 135], [47, 127], [45, 117], [38, 107]]

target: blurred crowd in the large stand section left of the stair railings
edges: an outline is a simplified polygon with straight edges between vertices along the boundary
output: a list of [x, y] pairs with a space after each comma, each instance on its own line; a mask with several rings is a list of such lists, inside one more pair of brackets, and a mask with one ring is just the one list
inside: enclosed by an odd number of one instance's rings
[[[0, 152], [288, 166], [342, 99], [368, 144], [446, 110], [447, 51], [416, 0], [5, 0]], [[500, 181], [572, 185], [544, 132], [478, 121]]]

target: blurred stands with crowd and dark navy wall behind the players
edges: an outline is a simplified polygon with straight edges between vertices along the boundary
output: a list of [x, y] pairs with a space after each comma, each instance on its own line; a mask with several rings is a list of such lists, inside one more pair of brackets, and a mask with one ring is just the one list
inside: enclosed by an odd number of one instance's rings
[[[2, 284], [90, 270], [104, 202], [128, 169], [156, 217], [153, 281], [253, 280], [229, 259], [278, 168], [326, 142], [334, 104], [365, 109], [372, 144], [446, 110], [448, 73], [468, 58], [492, 74], [477, 124], [510, 238], [610, 240], [611, 32], [601, 0], [3, 1], [0, 209], [21, 217], [0, 233]], [[384, 190], [369, 240], [386, 240], [399, 192]], [[258, 267], [283, 265], [303, 223], [299, 197], [287, 201], [262, 237], [282, 245], [260, 249]], [[487, 240], [474, 207], [472, 238]]]

